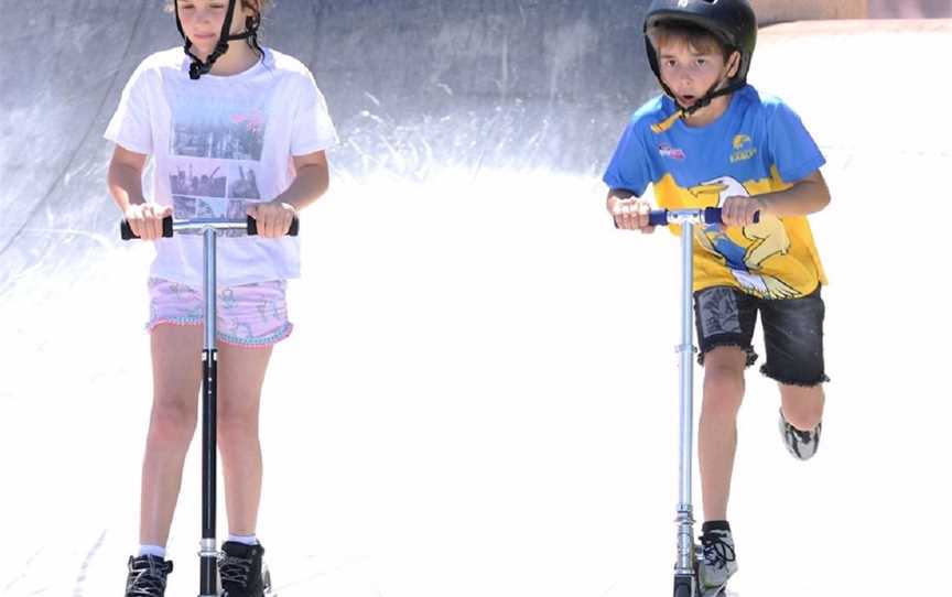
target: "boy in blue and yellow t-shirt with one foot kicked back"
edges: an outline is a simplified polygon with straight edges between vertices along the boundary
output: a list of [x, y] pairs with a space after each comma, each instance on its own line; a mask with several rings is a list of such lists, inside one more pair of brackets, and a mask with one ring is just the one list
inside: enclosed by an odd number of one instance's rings
[[645, 34], [666, 95], [642, 106], [621, 137], [604, 176], [607, 208], [618, 228], [653, 231], [640, 198], [649, 183], [661, 207], [723, 208], [724, 226], [696, 231], [693, 284], [704, 366], [699, 579], [716, 594], [737, 571], [727, 499], [758, 313], [760, 370], [779, 384], [787, 449], [805, 460], [820, 442], [826, 280], [805, 216], [830, 194], [819, 171], [825, 160], [797, 115], [746, 83], [757, 41], [747, 0], [654, 0]]

